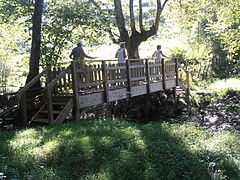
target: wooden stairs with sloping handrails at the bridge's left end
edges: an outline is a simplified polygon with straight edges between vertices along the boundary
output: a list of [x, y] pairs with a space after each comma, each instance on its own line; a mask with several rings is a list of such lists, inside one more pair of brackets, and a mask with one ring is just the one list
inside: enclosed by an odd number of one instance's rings
[[[20, 116], [15, 121], [21, 124], [60, 124], [71, 113], [74, 106], [72, 89], [72, 65], [57, 69], [47, 67], [25, 87], [14, 94]], [[66, 78], [67, 77], [67, 78]], [[44, 87], [33, 90], [36, 82], [45, 79]], [[64, 83], [63, 83], [64, 82]], [[9, 109], [9, 108], [8, 108]], [[8, 110], [7, 109], [7, 110]], [[11, 117], [0, 111], [0, 120]]]

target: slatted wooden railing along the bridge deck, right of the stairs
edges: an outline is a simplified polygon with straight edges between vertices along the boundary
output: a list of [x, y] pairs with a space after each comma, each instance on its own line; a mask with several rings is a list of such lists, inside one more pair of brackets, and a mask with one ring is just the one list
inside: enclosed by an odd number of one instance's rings
[[126, 60], [119, 64], [116, 60], [84, 61], [90, 65], [76, 68], [78, 88], [88, 93], [112, 90], [120, 87], [139, 85], [176, 78], [176, 60], [155, 62], [152, 59]]

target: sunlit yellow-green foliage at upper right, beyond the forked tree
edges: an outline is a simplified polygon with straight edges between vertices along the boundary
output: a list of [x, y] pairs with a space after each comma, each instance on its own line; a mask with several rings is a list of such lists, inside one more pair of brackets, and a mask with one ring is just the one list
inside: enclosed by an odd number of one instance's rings
[[173, 1], [168, 18], [181, 29], [179, 35], [189, 44], [186, 57], [218, 58], [228, 65], [228, 76], [239, 74], [239, 7], [236, 0]]

